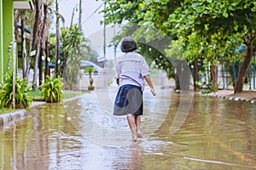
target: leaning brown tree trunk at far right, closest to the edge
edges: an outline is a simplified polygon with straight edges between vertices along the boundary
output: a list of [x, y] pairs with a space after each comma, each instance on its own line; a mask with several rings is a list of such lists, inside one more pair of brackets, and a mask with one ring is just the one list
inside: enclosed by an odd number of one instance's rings
[[253, 36], [251, 34], [247, 34], [245, 44], [247, 45], [247, 55], [241, 65], [240, 72], [237, 77], [234, 91], [235, 94], [239, 94], [242, 92], [243, 84], [247, 76], [247, 68], [250, 65], [251, 60], [253, 58]]

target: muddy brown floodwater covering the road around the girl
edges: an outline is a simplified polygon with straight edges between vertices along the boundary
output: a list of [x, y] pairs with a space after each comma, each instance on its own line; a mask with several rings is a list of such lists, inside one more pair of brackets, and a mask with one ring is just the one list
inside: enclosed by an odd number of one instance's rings
[[0, 170], [256, 169], [256, 105], [157, 89], [144, 93], [143, 139], [112, 116], [116, 89], [33, 107], [0, 127]]

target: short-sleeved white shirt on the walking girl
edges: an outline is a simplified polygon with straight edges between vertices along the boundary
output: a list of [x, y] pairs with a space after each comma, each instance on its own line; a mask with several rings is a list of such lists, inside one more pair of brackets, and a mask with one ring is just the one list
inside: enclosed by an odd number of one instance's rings
[[144, 90], [144, 76], [149, 74], [148, 64], [141, 54], [129, 52], [119, 57], [116, 65], [119, 86], [131, 84]]

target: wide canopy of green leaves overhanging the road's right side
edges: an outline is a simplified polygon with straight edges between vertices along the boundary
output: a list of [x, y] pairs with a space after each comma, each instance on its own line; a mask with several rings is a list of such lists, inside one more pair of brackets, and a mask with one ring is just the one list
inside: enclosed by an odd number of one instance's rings
[[[166, 65], [166, 57], [168, 60], [173, 57], [186, 59], [189, 64], [202, 62], [205, 67], [226, 60], [242, 61], [244, 54], [236, 53], [236, 48], [242, 43], [248, 45], [247, 35], [255, 37], [256, 31], [256, 3], [253, 1], [139, 0], [130, 3], [110, 0], [103, 12], [107, 24], [129, 22], [127, 26], [130, 28], [128, 31], [123, 29], [122, 36], [136, 37], [137, 40], [144, 37], [146, 42], [152, 42], [158, 36], [148, 30], [154, 27], [170, 37], [172, 42], [166, 47], [166, 56], [151, 53], [155, 55], [149, 57], [167, 72], [171, 65]], [[134, 24], [143, 29], [136, 30]], [[253, 51], [256, 51], [255, 44], [253, 40]], [[150, 54], [147, 52], [149, 48], [144, 45], [140, 51]]]

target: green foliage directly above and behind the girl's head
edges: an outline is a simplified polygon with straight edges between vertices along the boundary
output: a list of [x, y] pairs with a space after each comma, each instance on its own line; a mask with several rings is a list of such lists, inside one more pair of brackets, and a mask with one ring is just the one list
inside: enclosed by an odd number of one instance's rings
[[108, 1], [108, 4], [108, 8], [103, 11], [107, 24], [129, 21], [122, 32], [114, 38], [114, 44], [118, 44], [122, 37], [133, 37], [138, 43], [137, 52], [143, 54], [148, 64], [154, 63], [156, 68], [166, 71], [168, 77], [173, 77], [172, 61], [165, 54], [165, 48], [168, 47], [170, 40], [163, 42], [166, 26], [162, 23], [168, 19], [166, 13], [172, 11], [178, 3], [141, 0], [129, 3], [129, 1], [119, 0]]

